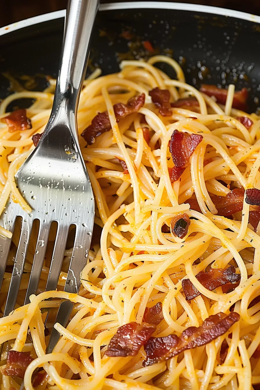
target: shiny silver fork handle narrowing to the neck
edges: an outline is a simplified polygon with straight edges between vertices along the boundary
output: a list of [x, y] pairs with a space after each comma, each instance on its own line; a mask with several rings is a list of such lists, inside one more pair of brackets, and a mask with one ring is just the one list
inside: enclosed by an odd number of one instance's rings
[[[69, 0], [65, 19], [60, 70], [58, 73], [53, 108], [49, 123], [58, 122], [67, 113], [68, 120], [74, 121], [82, 82], [85, 78], [90, 49], [92, 27], [99, 0]], [[71, 113], [74, 114], [71, 117]], [[76, 120], [76, 118], [75, 118]], [[74, 125], [74, 123], [69, 123]], [[47, 126], [45, 134], [48, 133]], [[76, 127], [70, 126], [76, 132]], [[74, 134], [77, 139], [78, 135]]]

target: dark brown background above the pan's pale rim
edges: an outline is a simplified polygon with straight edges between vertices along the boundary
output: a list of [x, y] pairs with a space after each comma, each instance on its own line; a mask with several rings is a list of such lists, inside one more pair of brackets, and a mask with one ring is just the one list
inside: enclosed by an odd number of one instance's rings
[[[103, 3], [110, 1], [101, 0]], [[188, 3], [206, 4], [260, 15], [260, 0], [184, 0], [182, 2], [187, 3], [187, 9]], [[67, 0], [11, 0], [10, 2], [2, 0], [1, 3], [0, 26], [5, 26], [18, 20], [64, 9]]]

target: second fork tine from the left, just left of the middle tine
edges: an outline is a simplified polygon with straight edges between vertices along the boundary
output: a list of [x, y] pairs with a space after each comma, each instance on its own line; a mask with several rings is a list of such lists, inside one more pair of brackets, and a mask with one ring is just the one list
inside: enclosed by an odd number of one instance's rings
[[12, 271], [11, 282], [7, 294], [4, 316], [8, 316], [10, 312], [14, 310], [14, 305], [16, 303], [16, 298], [18, 296], [19, 287], [23, 276], [23, 268], [25, 265], [31, 229], [32, 219], [29, 216], [26, 219], [23, 218], [21, 236], [14, 261], [14, 269]]

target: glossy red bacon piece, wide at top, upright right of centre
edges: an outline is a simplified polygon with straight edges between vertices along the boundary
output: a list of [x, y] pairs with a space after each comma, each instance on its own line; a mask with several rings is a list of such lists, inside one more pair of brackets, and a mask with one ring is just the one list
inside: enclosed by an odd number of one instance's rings
[[189, 158], [202, 140], [203, 137], [200, 134], [181, 133], [174, 130], [170, 140], [170, 152], [175, 167], [187, 168]]

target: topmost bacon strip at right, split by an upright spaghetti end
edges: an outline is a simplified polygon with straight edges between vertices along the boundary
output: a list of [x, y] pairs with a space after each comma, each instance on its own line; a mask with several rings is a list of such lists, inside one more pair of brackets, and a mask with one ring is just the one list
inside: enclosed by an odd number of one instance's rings
[[[200, 87], [200, 92], [208, 96], [215, 96], [217, 102], [220, 104], [226, 103], [226, 97], [228, 94], [228, 90], [224, 88], [218, 88], [216, 85], [207, 85], [202, 84]], [[246, 111], [248, 109], [248, 105], [246, 103], [248, 99], [248, 90], [246, 88], [242, 88], [241, 91], [236, 91], [234, 93], [232, 107], [237, 108], [238, 110]]]

